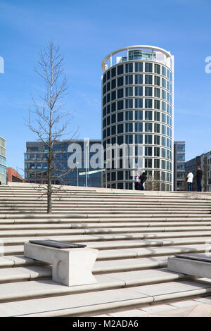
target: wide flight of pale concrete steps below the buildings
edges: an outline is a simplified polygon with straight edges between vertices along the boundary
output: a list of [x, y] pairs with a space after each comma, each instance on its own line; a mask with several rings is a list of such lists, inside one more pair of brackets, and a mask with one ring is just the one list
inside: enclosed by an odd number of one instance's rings
[[[167, 270], [168, 256], [211, 251], [211, 194], [0, 187], [0, 316], [96, 316], [206, 296], [211, 281]], [[23, 256], [30, 239], [98, 249], [96, 285], [66, 287], [51, 266]]]

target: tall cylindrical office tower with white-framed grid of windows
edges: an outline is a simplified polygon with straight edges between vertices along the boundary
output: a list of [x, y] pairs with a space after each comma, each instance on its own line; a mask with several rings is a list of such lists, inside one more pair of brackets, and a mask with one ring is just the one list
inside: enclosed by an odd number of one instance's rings
[[[113, 56], [116, 57], [113, 63]], [[174, 56], [155, 46], [128, 46], [102, 62], [103, 186], [173, 189]]]

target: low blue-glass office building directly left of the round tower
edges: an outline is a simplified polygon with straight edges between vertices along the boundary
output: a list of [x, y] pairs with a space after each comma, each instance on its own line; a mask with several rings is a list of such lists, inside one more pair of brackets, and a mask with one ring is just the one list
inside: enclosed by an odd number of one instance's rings
[[[43, 142], [27, 142], [25, 182], [46, 183], [49, 148]], [[53, 145], [51, 183], [101, 187], [101, 140], [64, 140]]]

